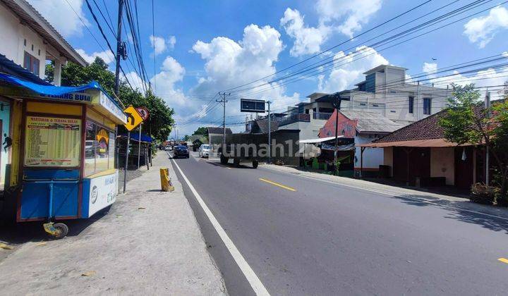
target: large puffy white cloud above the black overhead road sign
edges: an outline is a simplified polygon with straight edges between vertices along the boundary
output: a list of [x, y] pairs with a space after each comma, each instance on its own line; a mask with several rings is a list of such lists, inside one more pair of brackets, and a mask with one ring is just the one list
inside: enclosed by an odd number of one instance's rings
[[[284, 49], [280, 33], [273, 27], [258, 25], [248, 25], [243, 30], [243, 38], [238, 42], [227, 37], [215, 37], [210, 42], [195, 42], [193, 51], [200, 54], [205, 60], [205, 75], [198, 80], [198, 85], [193, 87], [193, 94], [210, 96], [217, 94], [221, 90], [226, 90], [237, 85], [258, 80], [275, 73], [274, 63], [279, 58], [279, 54]], [[258, 85], [267, 82], [268, 79], [255, 82]], [[294, 93], [289, 96], [284, 94], [284, 87], [277, 87], [272, 83], [272, 87], [264, 85], [262, 87], [250, 90], [249, 98], [252, 99], [270, 99], [272, 101], [272, 110], [285, 109], [299, 101], [299, 94]], [[258, 92], [258, 90], [267, 90], [266, 92]], [[205, 101], [206, 103], [206, 101]], [[234, 116], [227, 122], [238, 122], [245, 119], [244, 113], [240, 113], [239, 100], [235, 94], [229, 97], [230, 108], [226, 111], [226, 116]], [[200, 108], [189, 116], [184, 113], [185, 119], [191, 118], [196, 113], [202, 113], [202, 105]], [[201, 114], [200, 113], [200, 114]], [[202, 118], [205, 123], [200, 125], [213, 124], [217, 118], [222, 118], [222, 109], [216, 108], [208, 111], [209, 116]], [[213, 119], [210, 121], [210, 119]], [[185, 120], [184, 120], [185, 121]], [[198, 124], [189, 125], [188, 132], [192, 132], [193, 128]], [[236, 127], [236, 130], [240, 129]]]

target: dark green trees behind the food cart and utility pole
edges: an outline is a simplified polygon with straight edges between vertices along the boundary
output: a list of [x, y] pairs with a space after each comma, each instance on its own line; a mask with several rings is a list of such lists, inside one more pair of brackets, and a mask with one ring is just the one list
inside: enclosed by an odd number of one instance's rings
[[[46, 79], [50, 82], [53, 80], [53, 73], [54, 66], [48, 64], [46, 66]], [[85, 67], [71, 62], [62, 67], [62, 86], [85, 85], [92, 82], [92, 80], [99, 82], [99, 85], [111, 97], [114, 97], [115, 76], [102, 58], [95, 58], [93, 63]], [[140, 90], [132, 90], [124, 80], [121, 81], [119, 87], [119, 98], [125, 106], [145, 106], [150, 112], [150, 118], [146, 123], [143, 123], [143, 131], [147, 133], [151, 128], [152, 137], [160, 142], [167, 140], [171, 133], [171, 126], [174, 124], [172, 117], [174, 110], [169, 108], [162, 98], [157, 97], [150, 91], [144, 95]], [[123, 127], [120, 127], [119, 131], [126, 132]]]

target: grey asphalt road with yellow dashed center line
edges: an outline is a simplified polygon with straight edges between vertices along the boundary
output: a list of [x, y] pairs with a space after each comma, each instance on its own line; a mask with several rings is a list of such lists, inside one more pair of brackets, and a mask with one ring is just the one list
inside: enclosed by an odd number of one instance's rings
[[[507, 294], [502, 218], [268, 168], [174, 163], [272, 295]], [[177, 174], [229, 293], [253, 294]]]

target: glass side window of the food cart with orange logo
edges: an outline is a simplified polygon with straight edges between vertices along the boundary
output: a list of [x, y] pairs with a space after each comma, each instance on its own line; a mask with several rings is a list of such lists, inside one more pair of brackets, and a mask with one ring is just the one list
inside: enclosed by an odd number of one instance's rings
[[85, 176], [114, 168], [114, 133], [86, 122]]

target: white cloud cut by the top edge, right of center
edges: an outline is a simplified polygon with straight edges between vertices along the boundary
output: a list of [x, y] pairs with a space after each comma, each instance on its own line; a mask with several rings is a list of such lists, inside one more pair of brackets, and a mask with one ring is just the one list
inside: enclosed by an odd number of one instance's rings
[[336, 30], [353, 37], [353, 33], [361, 30], [370, 17], [380, 10], [382, 0], [319, 0], [316, 4], [321, 23], [339, 23]]

